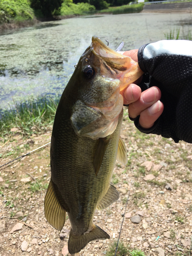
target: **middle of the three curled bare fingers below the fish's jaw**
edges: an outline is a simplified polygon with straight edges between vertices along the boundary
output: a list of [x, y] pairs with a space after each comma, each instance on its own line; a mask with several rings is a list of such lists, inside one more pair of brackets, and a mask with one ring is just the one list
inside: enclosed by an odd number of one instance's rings
[[152, 87], [141, 93], [140, 98], [129, 105], [129, 115], [136, 118], [142, 111], [160, 100], [161, 91], [158, 87]]

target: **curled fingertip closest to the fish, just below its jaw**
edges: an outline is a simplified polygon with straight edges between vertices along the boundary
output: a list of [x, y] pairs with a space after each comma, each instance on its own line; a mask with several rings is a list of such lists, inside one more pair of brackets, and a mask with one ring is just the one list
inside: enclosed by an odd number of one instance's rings
[[121, 92], [123, 95], [123, 104], [128, 105], [139, 99], [141, 95], [141, 88], [137, 84], [131, 83], [129, 87]]

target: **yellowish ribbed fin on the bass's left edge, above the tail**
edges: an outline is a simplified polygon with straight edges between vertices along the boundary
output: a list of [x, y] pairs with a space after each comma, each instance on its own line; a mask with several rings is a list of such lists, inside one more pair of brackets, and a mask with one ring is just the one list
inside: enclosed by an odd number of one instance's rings
[[45, 197], [45, 217], [49, 224], [61, 230], [66, 221], [66, 210], [61, 206], [57, 199], [52, 180], [49, 183]]

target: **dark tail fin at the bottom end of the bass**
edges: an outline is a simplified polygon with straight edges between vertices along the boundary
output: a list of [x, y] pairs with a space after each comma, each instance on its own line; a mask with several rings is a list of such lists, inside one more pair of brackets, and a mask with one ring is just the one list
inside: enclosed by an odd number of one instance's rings
[[89, 233], [83, 233], [81, 236], [74, 236], [71, 230], [69, 234], [68, 250], [70, 254], [75, 254], [83, 249], [89, 242], [95, 239], [110, 239], [108, 233], [102, 230], [97, 225]]

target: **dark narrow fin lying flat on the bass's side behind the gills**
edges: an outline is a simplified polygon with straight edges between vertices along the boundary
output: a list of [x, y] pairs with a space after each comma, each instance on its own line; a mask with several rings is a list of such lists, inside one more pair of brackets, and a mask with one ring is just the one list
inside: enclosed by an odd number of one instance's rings
[[99, 169], [102, 164], [102, 160], [104, 157], [104, 153], [106, 151], [106, 148], [108, 147], [108, 144], [110, 142], [110, 137], [105, 137], [105, 138], [99, 138], [99, 143], [97, 145], [97, 149], [95, 152], [95, 158], [94, 158], [94, 168], [95, 168], [95, 175], [97, 176]]

